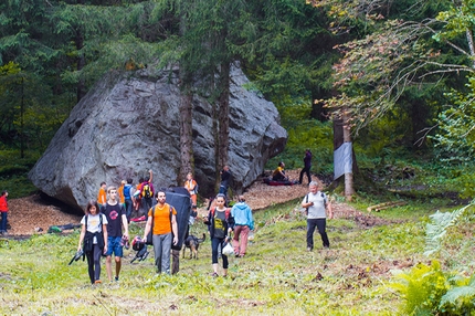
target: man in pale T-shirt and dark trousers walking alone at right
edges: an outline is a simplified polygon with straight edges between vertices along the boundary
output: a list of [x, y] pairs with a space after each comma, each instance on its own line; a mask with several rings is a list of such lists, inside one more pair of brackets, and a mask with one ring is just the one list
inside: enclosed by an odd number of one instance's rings
[[321, 185], [317, 181], [312, 181], [308, 185], [309, 192], [302, 201], [302, 207], [307, 209], [307, 251], [314, 250], [314, 231], [318, 229], [321, 236], [324, 247], [330, 247], [328, 235], [326, 232], [327, 212], [328, 219], [334, 218], [331, 203], [327, 196], [320, 191]]

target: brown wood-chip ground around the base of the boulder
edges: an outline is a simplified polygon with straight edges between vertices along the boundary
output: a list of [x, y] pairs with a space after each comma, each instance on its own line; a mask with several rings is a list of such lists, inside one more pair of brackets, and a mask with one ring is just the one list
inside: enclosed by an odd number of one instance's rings
[[[299, 170], [287, 170], [291, 179], [298, 179]], [[305, 181], [305, 180], [304, 180]], [[255, 211], [265, 209], [271, 204], [283, 203], [296, 198], [303, 198], [307, 193], [307, 182], [304, 185], [271, 187], [256, 181], [244, 193], [247, 204]], [[39, 194], [27, 198], [9, 200], [9, 235], [30, 235], [45, 233], [52, 225], [77, 224], [81, 215], [62, 212], [51, 202], [44, 201]], [[201, 208], [200, 213], [205, 213]], [[346, 203], [334, 203], [336, 218], [353, 218], [362, 225], [376, 224], [376, 219], [370, 218]], [[359, 220], [358, 220], [359, 219]]]

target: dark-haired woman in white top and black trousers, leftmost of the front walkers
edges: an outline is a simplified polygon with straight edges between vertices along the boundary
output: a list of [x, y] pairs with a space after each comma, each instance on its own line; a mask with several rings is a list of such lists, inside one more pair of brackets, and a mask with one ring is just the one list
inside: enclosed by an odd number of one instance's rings
[[[96, 201], [88, 201], [85, 215], [81, 220], [82, 229], [77, 253], [84, 252], [87, 257], [87, 272], [91, 284], [99, 284], [101, 257], [107, 252], [107, 218], [99, 212]], [[84, 247], [83, 247], [84, 242]]]

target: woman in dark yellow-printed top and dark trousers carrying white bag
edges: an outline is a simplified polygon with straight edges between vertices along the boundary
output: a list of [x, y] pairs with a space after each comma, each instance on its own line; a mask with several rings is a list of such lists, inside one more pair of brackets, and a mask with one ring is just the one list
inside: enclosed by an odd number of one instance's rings
[[[211, 260], [213, 266], [213, 277], [218, 276], [218, 249], [224, 249], [226, 242], [231, 242], [229, 235], [234, 228], [234, 219], [231, 215], [231, 209], [224, 207], [225, 196], [219, 193], [215, 198], [217, 207], [210, 209], [208, 218], [204, 219], [204, 224], [208, 225], [211, 239]], [[221, 254], [223, 261], [223, 277], [228, 276], [228, 256]]]

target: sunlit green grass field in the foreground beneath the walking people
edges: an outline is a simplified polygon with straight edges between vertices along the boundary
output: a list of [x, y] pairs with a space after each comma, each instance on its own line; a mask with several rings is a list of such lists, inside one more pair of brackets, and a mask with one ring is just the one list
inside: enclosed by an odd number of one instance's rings
[[[199, 260], [180, 257], [177, 275], [157, 275], [152, 253], [130, 264], [120, 281], [88, 283], [85, 262], [67, 265], [78, 231], [0, 240], [1, 315], [394, 315], [401, 298], [388, 287], [401, 263], [428, 261], [424, 220], [360, 228], [351, 219], [328, 222], [330, 250], [306, 252], [298, 201], [255, 213], [258, 229], [244, 259], [230, 259], [229, 277], [213, 278], [209, 239]], [[388, 221], [389, 223], [390, 221]], [[197, 222], [201, 235], [205, 225]], [[141, 235], [133, 224], [130, 235]], [[151, 250], [151, 247], [149, 247]], [[221, 261], [220, 261], [221, 264]]]

